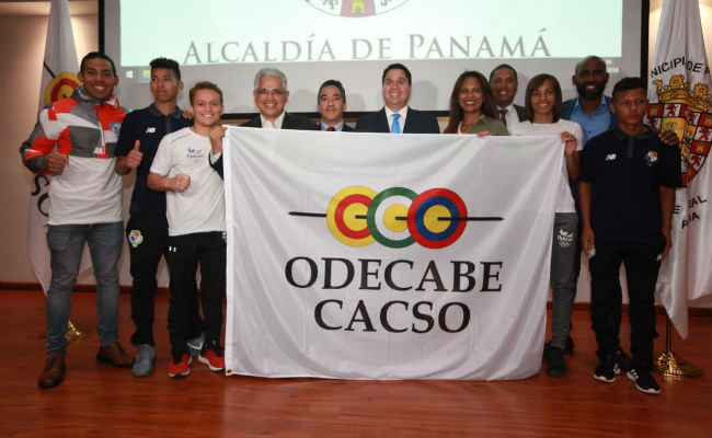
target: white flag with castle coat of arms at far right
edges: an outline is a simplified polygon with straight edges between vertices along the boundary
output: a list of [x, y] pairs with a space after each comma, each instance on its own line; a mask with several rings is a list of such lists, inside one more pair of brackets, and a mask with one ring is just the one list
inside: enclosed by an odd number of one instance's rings
[[688, 302], [712, 293], [712, 140], [710, 65], [697, 0], [665, 0], [651, 69], [648, 122], [681, 138], [684, 187], [676, 193], [673, 249], [657, 292], [670, 321], [687, 337]]

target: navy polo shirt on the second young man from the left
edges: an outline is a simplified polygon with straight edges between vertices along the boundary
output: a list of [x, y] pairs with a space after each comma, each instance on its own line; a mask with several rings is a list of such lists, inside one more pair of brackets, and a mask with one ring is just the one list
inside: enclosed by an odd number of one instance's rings
[[143, 159], [136, 169], [136, 184], [131, 194], [131, 216], [165, 216], [165, 192], [148, 188], [148, 173], [156, 157], [158, 145], [163, 136], [193, 126], [193, 120], [183, 118], [181, 110], [163, 115], [154, 104], [133, 111], [126, 115], [116, 143], [116, 155], [126, 157], [134, 149], [134, 143], [140, 141]]

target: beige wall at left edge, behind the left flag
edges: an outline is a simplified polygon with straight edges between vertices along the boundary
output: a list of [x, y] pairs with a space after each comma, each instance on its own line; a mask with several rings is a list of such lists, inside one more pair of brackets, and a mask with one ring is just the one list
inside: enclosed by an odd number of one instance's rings
[[[72, 16], [77, 53], [99, 48], [96, 2], [70, 2], [70, 10], [93, 14]], [[37, 116], [42, 62], [45, 55], [49, 3], [1, 4], [0, 8], [0, 281], [36, 283], [27, 257], [31, 173], [22, 165], [20, 145], [27, 139]], [[37, 8], [42, 7], [42, 8]], [[33, 15], [43, 13], [43, 15]], [[81, 56], [81, 55], [80, 55]], [[93, 279], [91, 279], [93, 283]], [[83, 281], [89, 283], [89, 281]]]

